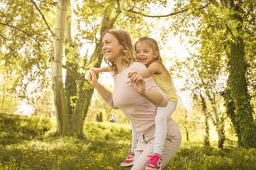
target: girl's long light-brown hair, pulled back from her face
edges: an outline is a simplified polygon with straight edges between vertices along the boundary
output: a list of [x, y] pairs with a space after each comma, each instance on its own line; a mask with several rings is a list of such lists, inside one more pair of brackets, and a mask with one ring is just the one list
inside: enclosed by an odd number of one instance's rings
[[152, 62], [159, 62], [159, 64], [161, 64], [162, 67], [164, 67], [164, 72], [166, 72], [167, 74], [167, 79], [169, 81], [172, 81], [171, 79], [171, 74], [169, 73], [168, 69], [166, 69], [166, 67], [164, 66], [163, 64], [163, 60], [160, 56], [160, 51], [159, 51], [159, 46], [156, 42], [156, 40], [154, 40], [153, 38], [149, 38], [149, 37], [142, 37], [142, 38], [139, 38], [139, 40], [135, 43], [135, 51], [136, 51], [136, 45], [138, 42], [148, 42], [150, 47], [152, 48], [153, 52], [158, 52], [159, 55], [157, 55], [156, 58], [154, 58], [151, 62], [149, 62], [148, 64], [146, 64], [146, 67], [149, 67], [149, 65], [152, 63]]

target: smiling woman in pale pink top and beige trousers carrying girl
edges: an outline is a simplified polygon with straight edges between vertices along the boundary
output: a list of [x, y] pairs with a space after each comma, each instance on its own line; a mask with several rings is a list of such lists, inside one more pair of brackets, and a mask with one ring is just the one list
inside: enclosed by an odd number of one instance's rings
[[[85, 79], [95, 87], [112, 108], [121, 109], [134, 123], [139, 133], [137, 136], [139, 142], [132, 169], [144, 169], [149, 160], [147, 155], [151, 155], [153, 152], [156, 106], [166, 106], [168, 98], [151, 77], [128, 78], [129, 72], [139, 72], [146, 67], [142, 63], [135, 62], [134, 47], [126, 31], [107, 30], [102, 39], [102, 51], [105, 54], [105, 62], [109, 64], [110, 71], [114, 73], [113, 94], [97, 81], [96, 74], [92, 69], [87, 72]], [[180, 145], [181, 132], [178, 125], [174, 120], [169, 120], [163, 159], [160, 158], [152, 169], [162, 169], [174, 157]]]

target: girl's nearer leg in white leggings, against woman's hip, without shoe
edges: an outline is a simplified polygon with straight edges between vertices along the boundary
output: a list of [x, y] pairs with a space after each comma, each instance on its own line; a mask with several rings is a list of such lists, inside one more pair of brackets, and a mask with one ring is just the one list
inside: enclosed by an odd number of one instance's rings
[[156, 132], [154, 141], [154, 154], [163, 155], [164, 142], [167, 134], [167, 120], [171, 117], [177, 107], [177, 102], [169, 101], [166, 107], [157, 107]]

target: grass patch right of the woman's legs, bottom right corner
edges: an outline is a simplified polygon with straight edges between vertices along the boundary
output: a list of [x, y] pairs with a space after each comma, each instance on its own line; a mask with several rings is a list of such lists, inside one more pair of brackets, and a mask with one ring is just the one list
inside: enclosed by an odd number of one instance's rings
[[171, 160], [171, 169], [255, 169], [256, 149], [201, 147], [185, 143]]

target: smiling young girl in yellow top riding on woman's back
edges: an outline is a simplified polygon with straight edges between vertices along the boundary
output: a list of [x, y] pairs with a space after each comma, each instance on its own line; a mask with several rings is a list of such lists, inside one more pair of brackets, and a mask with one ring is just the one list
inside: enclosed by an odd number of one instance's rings
[[[178, 96], [176, 94], [176, 89], [171, 79], [171, 75], [162, 62], [156, 40], [148, 37], [139, 38], [135, 44], [135, 51], [137, 61], [142, 62], [144, 65], [146, 65], [147, 68], [143, 69], [141, 72], [129, 72], [128, 77], [132, 80], [132, 83], [136, 82], [139, 76], [151, 76], [156, 84], [169, 98], [169, 104], [166, 107], [157, 107], [155, 118], [156, 130], [154, 139], [154, 152], [152, 156], [149, 156], [151, 157], [149, 162], [146, 162], [145, 164], [146, 170], [161, 169], [161, 156], [163, 154], [164, 142], [166, 140], [167, 121], [171, 120], [171, 114], [174, 113], [176, 109]], [[108, 67], [102, 67], [100, 69], [94, 68], [94, 71], [96, 73], [107, 72]], [[132, 133], [132, 149], [124, 162], [121, 163], [121, 166], [131, 166], [133, 164], [134, 150], [137, 145], [137, 132], [133, 123]]]

